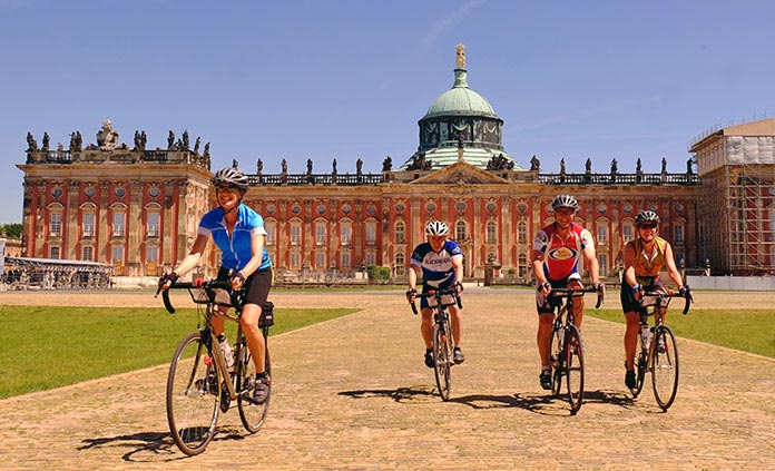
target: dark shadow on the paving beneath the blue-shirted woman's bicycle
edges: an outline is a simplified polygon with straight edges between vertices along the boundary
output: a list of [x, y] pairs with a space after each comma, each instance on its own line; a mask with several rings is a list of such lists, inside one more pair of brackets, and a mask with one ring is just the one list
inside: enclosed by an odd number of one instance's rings
[[[241, 433], [239, 429], [229, 425], [219, 425], [216, 429], [216, 434], [213, 436], [210, 444], [223, 440], [244, 440], [246, 436], [246, 434]], [[115, 436], [101, 436], [98, 439], [85, 439], [81, 443], [84, 444], [77, 448], [78, 451], [109, 447], [127, 449], [127, 452], [121, 455], [121, 459], [133, 463], [171, 462], [189, 458], [177, 449], [168, 431], [138, 432]], [[154, 458], [150, 459], [148, 454]], [[157, 457], [161, 457], [161, 459], [159, 460]]]

